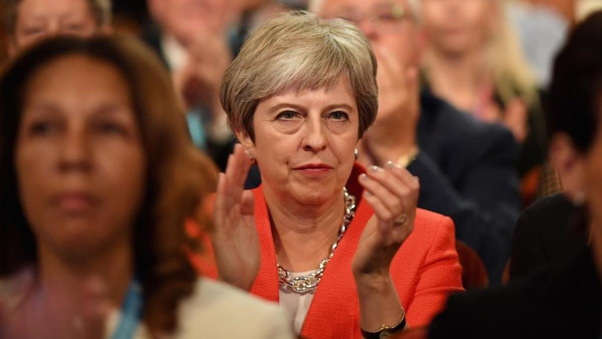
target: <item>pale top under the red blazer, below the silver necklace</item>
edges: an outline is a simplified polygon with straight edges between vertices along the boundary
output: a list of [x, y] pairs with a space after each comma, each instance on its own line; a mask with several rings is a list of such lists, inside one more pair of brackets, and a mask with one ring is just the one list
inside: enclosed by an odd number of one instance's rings
[[[291, 273], [292, 277], [306, 276], [310, 273], [314, 273], [317, 270], [311, 270], [300, 273]], [[280, 285], [280, 305], [284, 308], [284, 311], [288, 315], [288, 319], [293, 323], [293, 329], [296, 334], [301, 332], [305, 317], [309, 311], [311, 300], [314, 299], [315, 288], [305, 293], [298, 293], [293, 291], [286, 285]]]

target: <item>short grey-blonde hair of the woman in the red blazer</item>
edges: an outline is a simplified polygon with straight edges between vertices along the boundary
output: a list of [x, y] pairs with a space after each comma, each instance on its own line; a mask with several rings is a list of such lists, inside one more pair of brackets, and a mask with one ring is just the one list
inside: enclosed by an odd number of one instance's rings
[[265, 21], [226, 69], [220, 100], [233, 130], [254, 140], [259, 101], [282, 90], [330, 89], [347, 81], [358, 106], [358, 138], [378, 110], [376, 57], [350, 22], [291, 11]]

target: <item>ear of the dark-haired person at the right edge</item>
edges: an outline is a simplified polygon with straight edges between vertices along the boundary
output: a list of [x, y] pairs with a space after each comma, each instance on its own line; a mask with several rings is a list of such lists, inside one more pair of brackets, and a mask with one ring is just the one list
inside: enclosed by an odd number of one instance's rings
[[569, 198], [583, 194], [585, 160], [565, 133], [553, 136], [550, 142], [550, 162], [556, 168], [563, 191]]

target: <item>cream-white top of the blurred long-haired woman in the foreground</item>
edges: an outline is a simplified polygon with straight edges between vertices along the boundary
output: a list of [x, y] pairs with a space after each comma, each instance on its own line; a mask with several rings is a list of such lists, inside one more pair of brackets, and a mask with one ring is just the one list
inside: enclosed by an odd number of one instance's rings
[[[17, 311], [33, 281], [31, 268], [8, 279], [0, 279], [0, 305], [3, 311]], [[119, 309], [109, 315], [105, 327], [106, 338], [113, 334], [119, 317]], [[209, 279], [197, 280], [193, 294], [179, 303], [177, 318], [178, 330], [173, 335], [161, 335], [162, 339], [294, 338], [285, 312], [278, 304]], [[140, 324], [134, 338], [147, 339], [151, 336], [146, 327]]]

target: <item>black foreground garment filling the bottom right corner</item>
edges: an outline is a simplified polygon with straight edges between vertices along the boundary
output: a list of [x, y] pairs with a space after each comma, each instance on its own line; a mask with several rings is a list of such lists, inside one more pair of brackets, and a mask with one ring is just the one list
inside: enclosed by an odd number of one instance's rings
[[585, 249], [506, 287], [450, 297], [429, 338], [600, 338], [600, 292]]

